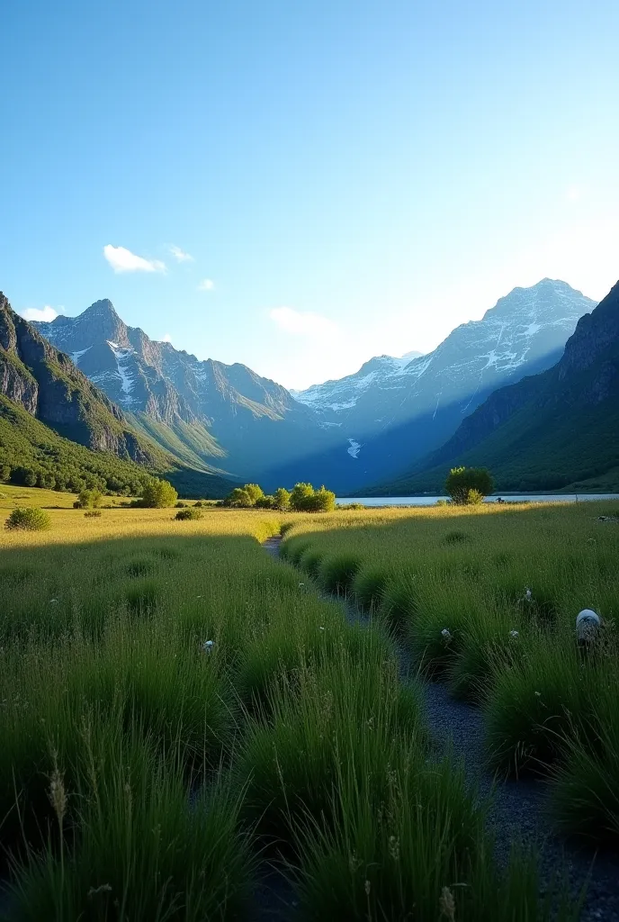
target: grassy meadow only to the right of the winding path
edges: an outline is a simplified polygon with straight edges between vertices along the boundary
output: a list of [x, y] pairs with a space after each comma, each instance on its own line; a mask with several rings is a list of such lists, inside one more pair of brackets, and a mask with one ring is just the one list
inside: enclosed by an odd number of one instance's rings
[[[282, 552], [479, 704], [488, 765], [547, 777], [558, 828], [617, 843], [619, 502], [325, 516]], [[603, 619], [586, 654], [581, 609]]]

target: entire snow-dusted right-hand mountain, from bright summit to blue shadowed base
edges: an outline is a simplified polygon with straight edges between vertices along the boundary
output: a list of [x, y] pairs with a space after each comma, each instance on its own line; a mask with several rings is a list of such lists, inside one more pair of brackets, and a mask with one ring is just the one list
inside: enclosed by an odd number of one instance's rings
[[[544, 278], [458, 326], [428, 355], [373, 359], [355, 375], [298, 394], [339, 433], [336, 448], [307, 459], [308, 476], [349, 495], [395, 476], [449, 439], [497, 387], [551, 367], [594, 306], [566, 282]], [[277, 477], [289, 473], [280, 467]]]

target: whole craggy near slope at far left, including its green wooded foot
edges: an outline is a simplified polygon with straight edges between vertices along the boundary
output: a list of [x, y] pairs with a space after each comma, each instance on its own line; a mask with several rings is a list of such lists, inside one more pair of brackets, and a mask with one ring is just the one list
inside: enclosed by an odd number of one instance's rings
[[192, 457], [178, 463], [147, 431], [134, 428], [1, 292], [0, 400], [0, 460], [17, 472], [16, 482], [30, 470], [58, 484], [97, 477], [111, 491], [136, 490], [149, 474], [165, 474], [185, 494], [219, 497], [233, 486], [205, 476]]

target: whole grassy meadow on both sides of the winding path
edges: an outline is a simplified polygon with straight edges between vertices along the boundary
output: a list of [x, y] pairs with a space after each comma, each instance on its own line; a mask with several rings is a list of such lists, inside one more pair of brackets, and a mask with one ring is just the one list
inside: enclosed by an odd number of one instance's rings
[[[26, 502], [12, 491], [0, 526]], [[597, 814], [584, 790], [569, 804], [582, 760], [617, 778], [619, 526], [591, 503], [174, 514], [61, 508], [49, 531], [0, 530], [0, 915], [578, 918], [524, 845], [497, 859], [396, 644], [485, 706], [493, 763], [555, 773], [566, 827], [616, 835], [616, 786]], [[261, 547], [280, 532], [284, 561]], [[606, 627], [583, 666], [585, 606]]]

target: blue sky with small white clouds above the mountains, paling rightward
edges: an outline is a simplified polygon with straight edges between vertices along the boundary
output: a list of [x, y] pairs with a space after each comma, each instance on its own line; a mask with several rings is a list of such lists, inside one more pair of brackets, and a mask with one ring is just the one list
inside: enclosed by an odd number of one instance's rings
[[290, 387], [619, 278], [617, 0], [2, 4], [0, 289]]

